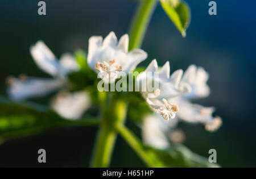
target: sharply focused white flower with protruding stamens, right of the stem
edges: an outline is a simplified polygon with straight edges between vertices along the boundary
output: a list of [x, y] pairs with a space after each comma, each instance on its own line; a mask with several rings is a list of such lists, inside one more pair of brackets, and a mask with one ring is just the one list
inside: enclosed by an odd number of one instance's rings
[[[179, 110], [177, 105], [171, 101], [167, 101], [167, 99], [177, 97], [184, 93], [185, 88], [179, 89], [179, 81], [182, 73], [182, 70], [177, 70], [170, 77], [170, 64], [168, 61], [158, 71], [156, 60], [152, 60], [147, 69], [140, 73], [136, 79], [137, 85], [142, 84], [142, 96], [146, 99], [150, 108], [162, 115], [166, 120], [175, 118], [175, 113]], [[155, 88], [154, 86], [154, 91], [150, 91], [152, 89], [149, 89], [148, 85], [152, 82], [159, 88]], [[145, 91], [143, 90], [143, 86], [147, 86]]]

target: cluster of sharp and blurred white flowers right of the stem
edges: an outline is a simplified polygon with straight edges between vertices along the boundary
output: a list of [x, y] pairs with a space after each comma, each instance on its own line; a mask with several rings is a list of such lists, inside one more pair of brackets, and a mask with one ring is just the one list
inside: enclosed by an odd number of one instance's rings
[[[154, 66], [154, 68], [151, 66]], [[158, 69], [155, 60], [148, 65], [146, 70], [149, 69]], [[182, 70], [176, 70], [170, 77], [170, 66], [166, 63], [159, 72], [166, 74], [164, 76], [159, 75], [158, 80], [159, 91], [162, 92], [162, 95], [155, 95], [154, 98], [146, 97], [146, 100], [153, 109], [159, 108], [162, 100], [162, 106], [175, 106], [177, 110], [171, 110], [171, 107], [166, 107], [166, 109], [162, 107], [162, 110], [156, 110], [164, 119], [169, 119], [166, 114], [174, 118], [172, 123], [166, 123], [164, 120], [158, 119], [161, 118], [158, 114], [146, 116], [142, 125], [144, 143], [156, 148], [168, 147], [170, 145], [170, 135], [168, 134], [171, 134], [172, 128], [176, 126], [177, 119], [189, 123], [203, 123], [205, 129], [211, 132], [216, 131], [221, 126], [221, 118], [212, 116], [214, 107], [204, 107], [191, 102], [191, 99], [204, 98], [210, 94], [210, 89], [207, 85], [209, 75], [203, 68], [191, 65], [185, 70], [184, 74]], [[174, 112], [176, 112], [176, 115]]]

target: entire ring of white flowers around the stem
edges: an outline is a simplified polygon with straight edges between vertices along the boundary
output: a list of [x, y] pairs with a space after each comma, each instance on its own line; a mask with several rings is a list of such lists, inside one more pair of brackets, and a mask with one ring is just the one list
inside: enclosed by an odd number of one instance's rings
[[[129, 36], [123, 35], [119, 41], [114, 32], [110, 32], [105, 39], [101, 36], [92, 36], [89, 39], [87, 63], [98, 73], [104, 82], [113, 83], [120, 72], [133, 71], [141, 61], [147, 58], [142, 49], [128, 51]], [[50, 74], [52, 79], [34, 77], [10, 77], [8, 93], [14, 100], [24, 100], [30, 97], [39, 97], [57, 89], [68, 87], [68, 74], [79, 69], [71, 55], [64, 55], [57, 60], [55, 55], [42, 41], [38, 41], [30, 49], [35, 63], [40, 69]], [[208, 73], [195, 65], [183, 70], [176, 70], [170, 75], [170, 64], [167, 61], [158, 69], [156, 60], [152, 60], [147, 69], [137, 77], [141, 84], [150, 73], [158, 72], [158, 77], [152, 81], [159, 84], [154, 91], [142, 91], [142, 96], [148, 106], [155, 111], [154, 115], [146, 116], [143, 122], [143, 139], [147, 144], [155, 147], [166, 147], [166, 131], [175, 126], [177, 119], [191, 123], [203, 123], [208, 131], [217, 130], [221, 126], [221, 118], [213, 117], [213, 107], [204, 107], [191, 103], [191, 99], [207, 97], [210, 93], [207, 85]], [[86, 91], [75, 93], [61, 91], [53, 99], [51, 107], [67, 119], [78, 119], [90, 106], [90, 98]], [[158, 119], [159, 117], [166, 120]]]

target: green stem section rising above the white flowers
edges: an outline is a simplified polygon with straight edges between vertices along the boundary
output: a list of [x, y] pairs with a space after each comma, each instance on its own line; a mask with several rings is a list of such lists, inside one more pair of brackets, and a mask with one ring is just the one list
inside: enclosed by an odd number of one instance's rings
[[129, 49], [140, 48], [158, 0], [140, 0], [129, 31]]

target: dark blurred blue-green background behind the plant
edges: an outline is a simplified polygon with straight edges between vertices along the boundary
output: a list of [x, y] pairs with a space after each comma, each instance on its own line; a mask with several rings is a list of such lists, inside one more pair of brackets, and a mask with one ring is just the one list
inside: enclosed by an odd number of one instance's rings
[[[51, 0], [45, 1], [47, 15], [38, 15], [39, 1], [0, 1], [0, 94], [6, 95], [5, 79], [18, 76], [47, 77], [32, 60], [29, 47], [42, 39], [59, 57], [76, 49], [87, 51], [92, 35], [118, 38], [127, 32], [136, 1]], [[255, 1], [216, 1], [217, 15], [208, 14], [209, 1], [187, 0], [192, 20], [182, 38], [160, 5], [156, 7], [142, 49], [147, 65], [169, 60], [172, 72], [189, 64], [203, 66], [210, 74], [210, 97], [197, 101], [216, 106], [223, 126], [214, 133], [204, 127], [180, 123], [185, 145], [208, 156], [217, 150], [221, 166], [256, 166], [255, 131]], [[1, 109], [0, 109], [1, 110]], [[139, 128], [128, 122], [139, 135]], [[96, 127], [61, 128], [7, 141], [0, 145], [0, 166], [88, 166]], [[47, 151], [47, 163], [38, 164], [38, 149]], [[111, 166], [144, 166], [121, 138]]]

